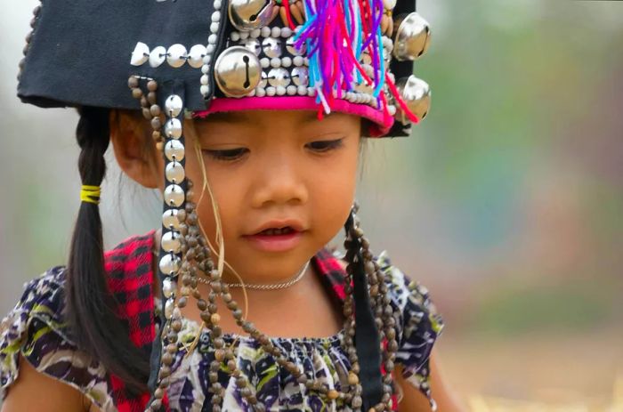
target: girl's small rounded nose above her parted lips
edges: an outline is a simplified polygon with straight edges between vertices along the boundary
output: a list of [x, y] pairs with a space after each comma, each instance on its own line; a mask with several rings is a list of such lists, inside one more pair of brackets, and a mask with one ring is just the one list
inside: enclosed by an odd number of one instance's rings
[[271, 204], [303, 204], [308, 198], [308, 188], [303, 176], [301, 162], [284, 154], [271, 157], [256, 170], [253, 206], [263, 207]]

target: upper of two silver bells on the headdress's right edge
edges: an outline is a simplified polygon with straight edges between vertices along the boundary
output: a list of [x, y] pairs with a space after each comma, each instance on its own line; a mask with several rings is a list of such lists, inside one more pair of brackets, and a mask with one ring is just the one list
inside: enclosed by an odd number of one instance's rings
[[431, 28], [417, 12], [401, 16], [394, 24], [393, 56], [398, 61], [415, 61], [428, 50]]

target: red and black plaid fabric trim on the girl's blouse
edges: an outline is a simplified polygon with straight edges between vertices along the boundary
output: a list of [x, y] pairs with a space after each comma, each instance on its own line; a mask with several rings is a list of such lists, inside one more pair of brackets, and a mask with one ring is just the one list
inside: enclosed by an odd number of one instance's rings
[[[132, 342], [147, 354], [155, 335], [154, 296], [151, 293], [153, 236], [154, 230], [151, 230], [146, 235], [128, 238], [104, 254], [109, 289], [118, 303], [117, 314], [128, 322]], [[313, 257], [312, 264], [336, 299], [344, 301], [346, 273], [336, 257], [322, 249]], [[142, 412], [150, 400], [149, 393], [130, 396], [125, 383], [117, 376], [110, 376], [110, 386], [119, 412]]]

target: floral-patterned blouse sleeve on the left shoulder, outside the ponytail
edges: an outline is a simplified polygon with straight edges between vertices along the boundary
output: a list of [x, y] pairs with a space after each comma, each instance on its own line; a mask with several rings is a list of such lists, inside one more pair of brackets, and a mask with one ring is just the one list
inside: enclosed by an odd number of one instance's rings
[[0, 323], [2, 399], [18, 377], [21, 358], [37, 372], [83, 392], [101, 410], [111, 410], [105, 370], [77, 349], [65, 320], [66, 276], [66, 269], [57, 266], [28, 281]]

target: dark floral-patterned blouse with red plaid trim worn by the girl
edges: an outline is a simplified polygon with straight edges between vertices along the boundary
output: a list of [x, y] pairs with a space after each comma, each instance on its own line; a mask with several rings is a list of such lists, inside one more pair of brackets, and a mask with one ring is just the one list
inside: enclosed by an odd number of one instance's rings
[[[129, 238], [106, 254], [109, 286], [117, 301], [123, 303], [128, 300], [127, 283], [132, 283], [133, 287], [129, 289], [134, 290], [133, 302], [141, 302], [134, 309], [128, 309], [133, 306], [131, 304], [125, 305], [126, 311], [138, 313], [134, 319], [141, 323], [140, 327], [133, 327], [130, 321], [131, 334], [145, 333], [147, 330], [151, 337], [154, 333], [153, 319], [159, 308], [158, 299], [151, 292], [152, 242], [153, 231], [142, 237]], [[337, 299], [343, 298], [340, 282], [344, 281], [345, 273], [337, 264], [336, 257], [322, 250], [314, 256], [312, 263], [327, 286], [328, 293]], [[443, 327], [441, 317], [435, 311], [425, 287], [410, 281], [392, 266], [385, 254], [378, 257], [378, 263], [384, 271], [392, 305], [402, 314], [396, 363], [401, 364], [407, 382], [424, 393], [434, 408], [429, 387], [429, 356]], [[142, 410], [136, 402], [124, 400], [118, 391], [118, 379], [108, 374], [97, 359], [77, 349], [63, 315], [65, 279], [65, 268], [59, 266], [29, 281], [20, 301], [0, 324], [0, 384], [3, 399], [17, 378], [21, 353], [37, 371], [76, 388], [103, 412]], [[119, 287], [124, 282], [126, 284]], [[197, 335], [197, 347], [190, 356], [185, 356]], [[131, 337], [136, 343], [135, 336]], [[199, 330], [196, 322], [187, 319], [183, 322], [179, 337], [180, 351], [174, 359], [172, 384], [167, 392], [169, 410], [211, 410], [212, 395], [207, 391], [207, 376], [210, 362], [214, 359], [214, 349], [209, 344], [208, 332]], [[347, 371], [350, 369], [348, 356], [340, 344], [342, 337], [340, 332], [324, 338], [271, 339], [308, 376], [320, 377], [329, 387], [339, 390], [341, 383], [347, 381]], [[261, 351], [259, 343], [253, 338], [230, 334], [224, 335], [224, 339], [226, 343], [235, 344], [239, 368], [247, 375], [257, 399], [266, 405], [266, 410], [351, 410], [336, 403], [336, 400], [327, 403], [315, 393], [307, 392], [305, 386], [296, 383], [287, 370], [279, 368], [271, 355]], [[251, 411], [244, 400], [237, 396], [239, 390], [234, 379], [225, 374], [222, 377], [221, 384], [227, 388], [223, 410]], [[143, 397], [142, 402], [145, 400]], [[206, 408], [203, 408], [204, 405]]]

